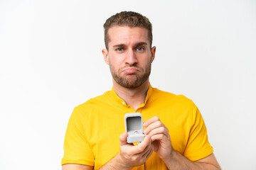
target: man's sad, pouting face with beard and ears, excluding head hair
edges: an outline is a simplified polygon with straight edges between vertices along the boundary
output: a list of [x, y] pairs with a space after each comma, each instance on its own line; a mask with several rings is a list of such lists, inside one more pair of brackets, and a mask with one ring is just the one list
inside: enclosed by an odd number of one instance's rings
[[105, 62], [117, 84], [136, 88], [149, 79], [156, 47], [149, 47], [148, 30], [113, 26], [108, 30], [108, 51], [102, 50]]

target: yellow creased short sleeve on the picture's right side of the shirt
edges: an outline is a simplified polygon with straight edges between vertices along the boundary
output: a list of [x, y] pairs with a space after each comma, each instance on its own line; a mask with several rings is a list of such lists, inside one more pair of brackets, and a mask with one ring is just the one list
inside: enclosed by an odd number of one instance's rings
[[191, 103], [193, 122], [188, 137], [188, 143], [183, 155], [191, 161], [197, 161], [212, 154], [213, 147], [211, 147], [210, 143], [208, 142], [208, 135], [203, 117], [196, 105], [192, 101]]

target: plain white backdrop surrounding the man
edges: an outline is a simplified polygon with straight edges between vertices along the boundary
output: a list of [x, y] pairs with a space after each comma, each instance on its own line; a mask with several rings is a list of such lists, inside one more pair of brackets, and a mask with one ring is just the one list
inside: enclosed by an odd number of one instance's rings
[[0, 0], [0, 169], [60, 169], [75, 106], [112, 88], [103, 23], [153, 24], [151, 85], [191, 98], [223, 169], [256, 169], [256, 1]]

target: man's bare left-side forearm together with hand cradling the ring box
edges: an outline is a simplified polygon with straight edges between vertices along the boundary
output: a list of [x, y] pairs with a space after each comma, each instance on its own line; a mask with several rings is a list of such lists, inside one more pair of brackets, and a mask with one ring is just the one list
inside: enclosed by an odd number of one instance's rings
[[127, 136], [127, 132], [119, 136], [120, 152], [110, 162], [102, 166], [100, 170], [128, 170], [134, 166], [144, 164], [149, 159], [153, 152], [149, 135], [146, 135], [142, 143], [136, 146], [127, 143]]

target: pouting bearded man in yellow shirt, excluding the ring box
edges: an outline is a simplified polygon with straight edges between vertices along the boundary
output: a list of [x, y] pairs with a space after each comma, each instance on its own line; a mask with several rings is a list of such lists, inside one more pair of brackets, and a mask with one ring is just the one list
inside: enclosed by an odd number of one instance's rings
[[[65, 135], [66, 169], [220, 169], [198, 108], [149, 84], [151, 23], [134, 12], [107, 19], [104, 60], [110, 65], [112, 91], [76, 107]], [[139, 112], [146, 137], [127, 143], [124, 114]]]

